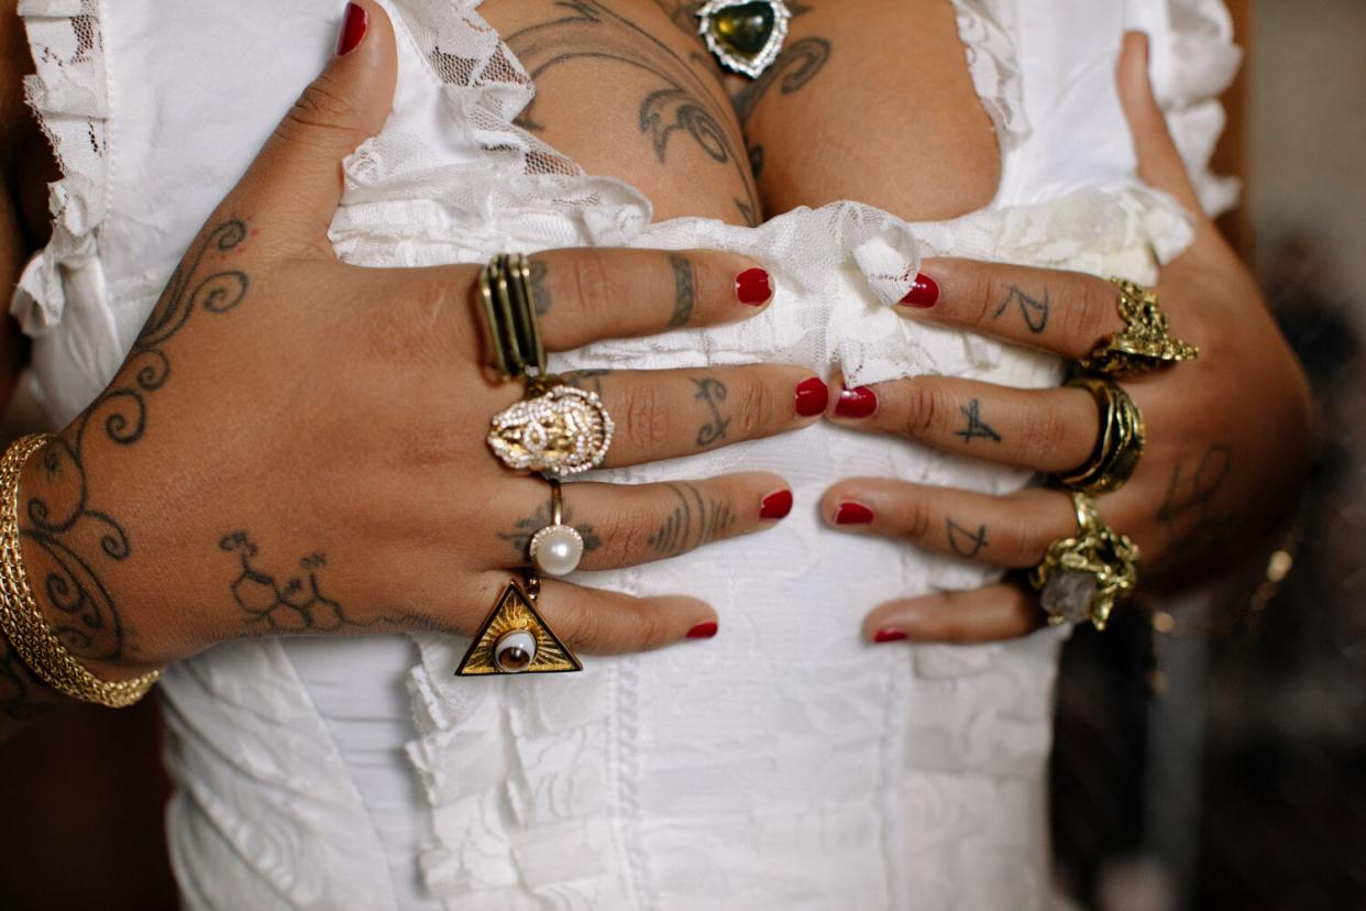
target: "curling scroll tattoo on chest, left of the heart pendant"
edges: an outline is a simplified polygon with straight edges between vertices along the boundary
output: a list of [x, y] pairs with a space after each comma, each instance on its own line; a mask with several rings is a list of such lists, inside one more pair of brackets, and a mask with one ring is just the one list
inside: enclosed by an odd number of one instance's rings
[[[656, 160], [664, 164], [669, 139], [679, 131], [687, 134], [712, 161], [735, 171], [744, 198], [734, 199], [734, 205], [746, 224], [758, 224], [758, 194], [749, 160], [742, 154], [744, 141], [725, 116], [720, 83], [709, 83], [667, 44], [601, 0], [556, 0], [553, 5], [564, 11], [561, 18], [507, 37], [531, 79], [576, 59], [616, 63], [650, 74], [658, 87], [641, 100], [637, 122], [650, 139]], [[691, 56], [703, 71], [713, 70], [701, 45]], [[542, 128], [535, 122], [535, 104], [533, 98], [518, 116], [518, 124], [533, 132]]]

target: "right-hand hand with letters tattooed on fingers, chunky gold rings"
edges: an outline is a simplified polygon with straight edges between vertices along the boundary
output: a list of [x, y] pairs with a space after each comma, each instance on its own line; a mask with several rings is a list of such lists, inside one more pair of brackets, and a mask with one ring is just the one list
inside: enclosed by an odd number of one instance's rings
[[[1195, 219], [1195, 240], [1161, 270], [1156, 292], [1171, 335], [1199, 358], [1123, 381], [1143, 412], [1147, 443], [1138, 470], [1096, 504], [1142, 552], [1141, 585], [1203, 575], [1255, 549], [1292, 508], [1311, 448], [1309, 384], [1276, 328], [1255, 281], [1201, 214], [1195, 191], [1153, 100], [1146, 38], [1130, 34], [1119, 90], [1134, 134], [1139, 176], [1173, 195]], [[1123, 329], [1117, 288], [1053, 269], [926, 260], [914, 300], [897, 310], [1078, 359]], [[1014, 389], [923, 376], [846, 389], [828, 417], [966, 456], [1065, 473], [1085, 463], [1100, 432], [1085, 389]], [[1065, 490], [1027, 488], [1008, 496], [850, 478], [821, 504], [843, 531], [878, 534], [967, 560], [1024, 568], [1075, 534]], [[1019, 582], [900, 600], [865, 620], [874, 641], [982, 642], [1024, 635], [1045, 619]]]

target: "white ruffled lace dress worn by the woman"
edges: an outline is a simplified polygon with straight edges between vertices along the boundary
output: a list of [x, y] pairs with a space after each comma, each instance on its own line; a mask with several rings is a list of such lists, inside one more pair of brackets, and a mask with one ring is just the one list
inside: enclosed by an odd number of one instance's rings
[[[29, 92], [64, 179], [14, 313], [55, 422], [107, 382], [182, 250], [322, 67], [336, 0], [20, 0]], [[1113, 87], [1124, 27], [1209, 209], [1213, 98], [1238, 64], [1218, 0], [955, 0], [1004, 176], [988, 209], [906, 224], [836, 204], [759, 228], [650, 224], [511, 126], [530, 81], [477, 0], [389, 0], [399, 89], [347, 164], [332, 238], [365, 265], [570, 244], [719, 247], [780, 298], [740, 326], [594, 346], [556, 366], [781, 361], [855, 382], [925, 372], [1046, 387], [1060, 365], [888, 309], [918, 257], [1154, 276], [1190, 240], [1137, 186]], [[1064, 25], [1065, 23], [1065, 25]], [[451, 60], [463, 59], [459, 68]], [[229, 86], [229, 90], [224, 90]], [[384, 306], [377, 302], [376, 306]], [[154, 402], [150, 403], [154, 408]], [[190, 908], [1044, 908], [1045, 770], [1061, 632], [870, 646], [859, 619], [988, 570], [821, 527], [839, 477], [1005, 492], [1019, 471], [817, 425], [608, 477], [765, 468], [779, 529], [590, 583], [712, 601], [721, 635], [589, 656], [572, 676], [456, 680], [464, 639], [251, 641], [168, 669], [168, 825]]]

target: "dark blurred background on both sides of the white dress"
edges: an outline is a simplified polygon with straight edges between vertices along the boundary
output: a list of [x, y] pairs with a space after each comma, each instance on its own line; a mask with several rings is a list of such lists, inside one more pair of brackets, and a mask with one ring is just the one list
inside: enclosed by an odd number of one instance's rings
[[[1366, 0], [1229, 5], [1251, 57], [1224, 227], [1324, 440], [1274, 597], [1249, 589], [1209, 623], [1149, 602], [1064, 651], [1057, 870], [1100, 911], [1366, 910]], [[176, 907], [157, 710], [76, 709], [0, 746], [0, 908]]]

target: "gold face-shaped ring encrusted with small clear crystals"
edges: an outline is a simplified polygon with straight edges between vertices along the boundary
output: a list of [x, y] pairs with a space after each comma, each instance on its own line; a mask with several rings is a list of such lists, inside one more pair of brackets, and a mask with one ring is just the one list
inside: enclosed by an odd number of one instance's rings
[[602, 464], [615, 425], [596, 392], [559, 377], [527, 382], [526, 397], [493, 415], [488, 443], [514, 471], [570, 475]]

